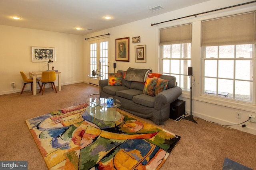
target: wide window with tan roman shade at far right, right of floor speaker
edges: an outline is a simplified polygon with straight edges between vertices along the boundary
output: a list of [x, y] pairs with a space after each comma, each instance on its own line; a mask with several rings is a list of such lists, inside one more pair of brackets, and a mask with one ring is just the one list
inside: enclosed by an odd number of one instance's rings
[[202, 93], [255, 104], [255, 12], [202, 21], [201, 26]]

